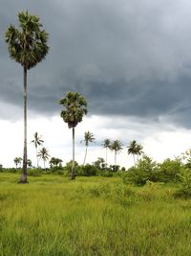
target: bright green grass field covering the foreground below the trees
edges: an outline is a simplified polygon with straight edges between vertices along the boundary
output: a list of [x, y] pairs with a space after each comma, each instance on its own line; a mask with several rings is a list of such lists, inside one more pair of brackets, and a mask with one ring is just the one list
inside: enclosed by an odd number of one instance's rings
[[191, 200], [119, 177], [0, 173], [0, 256], [191, 255]]

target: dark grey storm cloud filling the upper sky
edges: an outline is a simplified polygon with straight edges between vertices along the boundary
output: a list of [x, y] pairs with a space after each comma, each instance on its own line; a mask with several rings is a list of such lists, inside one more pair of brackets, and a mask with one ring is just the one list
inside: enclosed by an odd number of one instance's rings
[[[186, 128], [191, 95], [191, 4], [151, 0], [0, 0], [0, 101], [22, 106], [22, 69], [3, 39], [15, 13], [39, 14], [51, 51], [29, 72], [29, 108], [52, 115], [71, 90], [90, 114], [160, 120]], [[11, 111], [8, 113], [11, 115]], [[8, 115], [9, 118], [9, 115]]]

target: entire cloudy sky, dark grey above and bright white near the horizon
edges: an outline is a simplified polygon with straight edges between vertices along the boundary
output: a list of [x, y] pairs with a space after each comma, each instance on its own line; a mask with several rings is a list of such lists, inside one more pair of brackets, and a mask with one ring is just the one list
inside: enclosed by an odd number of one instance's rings
[[[191, 146], [191, 2], [189, 0], [0, 0], [0, 163], [13, 165], [23, 151], [21, 66], [9, 58], [4, 32], [16, 13], [40, 16], [50, 53], [29, 72], [28, 146], [38, 131], [50, 154], [72, 158], [72, 130], [57, 102], [78, 91], [89, 113], [76, 128], [76, 160], [83, 161], [84, 131], [95, 134], [88, 162], [104, 157], [101, 141], [137, 140], [161, 161]], [[109, 153], [114, 163], [114, 155]]]

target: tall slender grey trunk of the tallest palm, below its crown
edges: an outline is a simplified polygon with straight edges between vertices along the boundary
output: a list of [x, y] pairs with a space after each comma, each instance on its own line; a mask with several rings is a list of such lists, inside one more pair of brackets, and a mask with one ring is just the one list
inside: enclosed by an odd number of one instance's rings
[[24, 66], [24, 150], [20, 183], [27, 183], [27, 67]]

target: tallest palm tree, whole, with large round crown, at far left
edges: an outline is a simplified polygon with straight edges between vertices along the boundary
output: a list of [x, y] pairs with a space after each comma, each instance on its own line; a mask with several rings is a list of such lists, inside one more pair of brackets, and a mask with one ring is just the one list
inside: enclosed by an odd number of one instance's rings
[[49, 52], [48, 33], [42, 30], [39, 17], [29, 12], [19, 12], [20, 30], [10, 25], [5, 33], [10, 57], [23, 67], [24, 81], [24, 150], [20, 183], [27, 183], [27, 71]]

